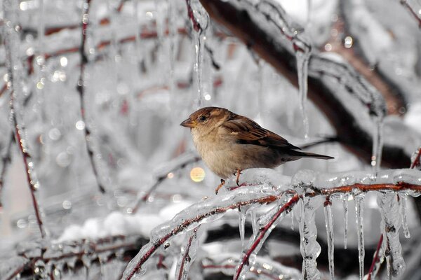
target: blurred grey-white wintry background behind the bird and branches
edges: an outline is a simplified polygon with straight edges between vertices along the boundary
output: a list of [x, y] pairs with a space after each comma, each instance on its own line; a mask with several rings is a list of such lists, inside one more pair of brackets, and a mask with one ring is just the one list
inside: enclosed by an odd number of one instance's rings
[[[1, 279], [10, 279], [11, 267], [22, 264], [25, 269], [13, 277], [119, 279], [154, 226], [214, 195], [220, 179], [197, 158], [189, 130], [179, 125], [199, 106], [222, 106], [252, 118], [295, 146], [330, 139], [310, 150], [335, 160], [288, 162], [276, 169], [279, 174], [293, 176], [302, 169], [352, 174], [373, 169], [372, 155], [345, 148], [335, 127], [310, 101], [305, 102], [309, 119], [305, 137], [298, 88], [229, 29], [213, 22], [199, 1], [192, 0], [190, 7], [200, 32], [194, 30], [186, 5], [190, 2], [184, 0], [1, 2]], [[257, 5], [259, 1], [245, 2]], [[394, 124], [389, 132], [404, 131], [417, 139], [399, 144], [410, 153], [415, 151], [421, 143], [421, 1], [277, 2], [290, 17], [290, 25], [311, 42], [313, 52], [346, 61], [381, 92], [386, 100], [385, 122]], [[85, 36], [81, 36], [81, 22], [88, 22]], [[15, 124], [27, 152], [23, 155]], [[17, 256], [30, 259], [36, 255], [34, 248], [48, 247], [50, 241], [39, 241], [27, 170], [48, 240], [62, 244], [62, 253], [76, 248], [86, 252], [86, 240], [129, 245], [102, 256], [89, 251], [89, 261], [72, 257], [60, 259], [60, 265], [32, 264], [43, 268], [31, 274], [31, 265]], [[365, 203], [369, 267], [380, 237], [380, 212], [375, 194], [367, 195]], [[420, 213], [413, 200], [408, 200], [407, 211], [411, 238], [401, 239], [407, 260], [407, 274], [401, 279], [421, 279]], [[322, 212], [316, 214], [322, 246], [318, 262], [327, 279]], [[333, 215], [338, 279], [358, 279], [352, 198], [347, 250], [343, 249], [342, 201], [333, 200]], [[291, 223], [286, 218], [259, 255], [300, 270], [298, 222], [294, 230]], [[227, 275], [232, 275], [232, 269], [206, 269], [206, 261], [224, 264], [239, 258], [238, 226], [239, 215], [233, 211], [207, 228], [201, 258], [196, 260], [202, 267], [195, 268], [191, 279], [231, 278]], [[250, 234], [247, 217], [246, 236]], [[72, 248], [67, 248], [69, 244]], [[211, 258], [215, 255], [226, 258], [217, 261]], [[148, 279], [173, 279], [173, 258], [163, 263], [164, 268], [153, 269]], [[300, 276], [298, 270], [291, 272], [291, 279]], [[250, 276], [256, 278], [273, 279]]]

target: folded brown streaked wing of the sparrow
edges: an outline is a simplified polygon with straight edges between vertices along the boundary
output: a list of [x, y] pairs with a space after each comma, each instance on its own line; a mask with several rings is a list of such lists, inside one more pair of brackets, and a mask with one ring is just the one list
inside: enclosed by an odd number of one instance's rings
[[268, 146], [273, 148], [290, 148], [300, 150], [300, 148], [290, 144], [286, 139], [278, 134], [266, 130], [249, 118], [232, 114], [222, 125], [231, 134], [236, 136], [239, 144], [253, 144], [258, 146]]

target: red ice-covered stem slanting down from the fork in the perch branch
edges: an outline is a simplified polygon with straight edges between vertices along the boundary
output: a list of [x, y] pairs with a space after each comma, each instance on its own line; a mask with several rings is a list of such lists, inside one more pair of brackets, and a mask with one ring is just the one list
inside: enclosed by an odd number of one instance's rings
[[290, 199], [285, 204], [283, 204], [283, 206], [280, 207], [278, 211], [276, 211], [274, 216], [269, 219], [269, 222], [259, 229], [258, 234], [253, 235], [253, 239], [251, 239], [253, 241], [250, 241], [250, 246], [248, 246], [245, 253], [243, 253], [241, 256], [241, 261], [239, 262], [239, 265], [234, 274], [234, 280], [238, 280], [241, 272], [243, 272], [244, 267], [248, 267], [250, 255], [257, 254], [260, 248], [262, 248], [263, 242], [267, 239], [270, 232], [272, 232], [272, 226], [274, 223], [276, 223], [276, 221], [279, 220], [281, 214], [289, 211], [298, 202], [299, 199], [300, 196], [297, 194], [293, 195], [293, 197], [290, 197]]

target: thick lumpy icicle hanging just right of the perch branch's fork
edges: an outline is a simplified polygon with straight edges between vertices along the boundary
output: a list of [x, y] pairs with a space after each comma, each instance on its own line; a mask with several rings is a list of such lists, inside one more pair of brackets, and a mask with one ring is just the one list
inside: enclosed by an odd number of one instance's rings
[[316, 258], [319, 256], [321, 247], [317, 242], [317, 228], [315, 212], [321, 206], [321, 197], [304, 197], [302, 215], [300, 217], [300, 251], [302, 255], [302, 279], [316, 280], [321, 275], [317, 269]]

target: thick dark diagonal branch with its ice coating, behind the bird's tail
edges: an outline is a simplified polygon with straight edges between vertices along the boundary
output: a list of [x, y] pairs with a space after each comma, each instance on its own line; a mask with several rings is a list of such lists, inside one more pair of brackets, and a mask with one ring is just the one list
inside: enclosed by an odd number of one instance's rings
[[[201, 3], [210, 18], [229, 29], [248, 48], [274, 66], [290, 83], [298, 86], [297, 72], [293, 63], [295, 51], [292, 44], [250, 1], [201, 0]], [[320, 66], [323, 66], [323, 69]], [[333, 79], [336, 80], [335, 83]], [[367, 87], [367, 81], [361, 78], [352, 66], [335, 62], [320, 54], [313, 54], [309, 60], [308, 81], [309, 99], [312, 99], [312, 102], [325, 113], [335, 128], [338, 139], [349, 148], [349, 151], [370, 162], [370, 157], [367, 155], [372, 153], [373, 136], [372, 130], [368, 129], [367, 125], [373, 128], [375, 124], [368, 115], [375, 116], [375, 112], [384, 111], [384, 106], [377, 106], [382, 103], [381, 94], [372, 87]], [[364, 104], [361, 104], [360, 109], [347, 105], [350, 102], [346, 102], [345, 97], [359, 98], [361, 93], [366, 94], [366, 97], [375, 97], [375, 100], [369, 102], [369, 99], [364, 98]], [[363, 121], [361, 111], [367, 113]], [[406, 139], [415, 139], [417, 136], [409, 127], [404, 125], [403, 127], [402, 134], [393, 135], [395, 139], [402, 137], [401, 141], [394, 141], [395, 144], [392, 144], [392, 135], [385, 135], [382, 156], [382, 163], [385, 166], [402, 168], [409, 165], [409, 155], [403, 143], [407, 143]], [[385, 131], [388, 128], [385, 125]], [[396, 145], [398, 142], [401, 145]]]

